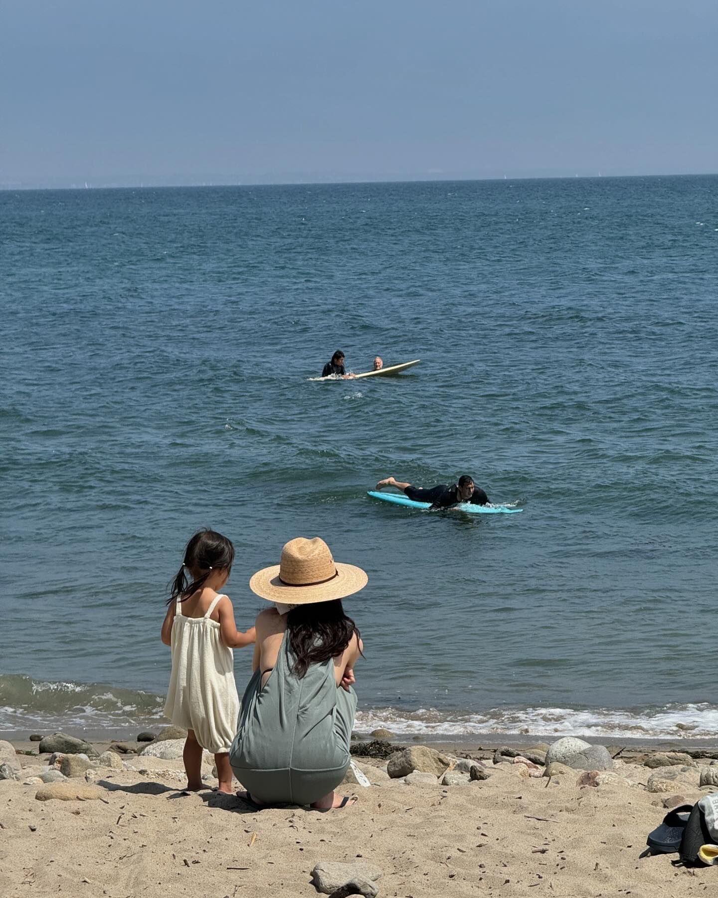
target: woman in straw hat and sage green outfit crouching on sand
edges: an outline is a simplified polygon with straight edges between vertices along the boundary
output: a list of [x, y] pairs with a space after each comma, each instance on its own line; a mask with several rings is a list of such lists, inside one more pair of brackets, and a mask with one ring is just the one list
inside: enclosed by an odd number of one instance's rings
[[340, 600], [366, 582], [360, 568], [336, 564], [318, 537], [287, 542], [281, 563], [251, 578], [252, 592], [276, 607], [256, 621], [254, 675], [230, 751], [250, 804], [328, 810], [349, 802], [334, 789], [351, 760], [353, 668], [363, 646]]

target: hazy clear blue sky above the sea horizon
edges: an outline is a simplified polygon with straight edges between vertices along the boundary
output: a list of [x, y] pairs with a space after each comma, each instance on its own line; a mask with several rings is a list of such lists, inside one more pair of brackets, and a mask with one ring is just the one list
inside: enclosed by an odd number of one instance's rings
[[2, 0], [0, 186], [718, 172], [715, 0]]

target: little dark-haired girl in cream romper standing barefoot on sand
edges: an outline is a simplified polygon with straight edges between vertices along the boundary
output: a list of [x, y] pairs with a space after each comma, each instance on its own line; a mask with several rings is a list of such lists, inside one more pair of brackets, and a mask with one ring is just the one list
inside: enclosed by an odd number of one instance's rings
[[220, 792], [232, 792], [229, 751], [240, 713], [232, 648], [249, 646], [255, 638], [254, 627], [246, 633], [237, 629], [232, 603], [220, 592], [233, 560], [232, 542], [221, 533], [195, 533], [172, 583], [162, 623], [162, 642], [172, 650], [164, 713], [188, 731], [182, 758], [187, 788], [192, 790], [204, 788], [206, 748], [215, 755]]

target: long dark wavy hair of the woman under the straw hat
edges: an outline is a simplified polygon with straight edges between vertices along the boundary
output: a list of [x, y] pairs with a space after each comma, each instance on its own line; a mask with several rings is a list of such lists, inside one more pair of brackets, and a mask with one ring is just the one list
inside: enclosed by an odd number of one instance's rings
[[286, 616], [286, 631], [287, 661], [300, 678], [310, 665], [341, 655], [355, 633], [361, 638], [355, 622], [346, 617], [341, 599], [297, 605]]

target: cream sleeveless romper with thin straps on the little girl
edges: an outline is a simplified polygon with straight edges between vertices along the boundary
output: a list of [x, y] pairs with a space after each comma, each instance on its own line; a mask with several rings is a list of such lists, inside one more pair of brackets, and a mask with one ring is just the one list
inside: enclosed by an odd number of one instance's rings
[[213, 754], [229, 752], [240, 714], [232, 649], [222, 644], [219, 623], [210, 617], [221, 598], [217, 595], [201, 618], [186, 617], [177, 603], [164, 706], [175, 726], [194, 730], [197, 742]]

